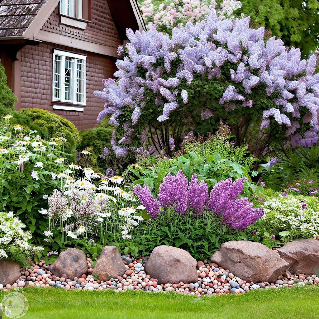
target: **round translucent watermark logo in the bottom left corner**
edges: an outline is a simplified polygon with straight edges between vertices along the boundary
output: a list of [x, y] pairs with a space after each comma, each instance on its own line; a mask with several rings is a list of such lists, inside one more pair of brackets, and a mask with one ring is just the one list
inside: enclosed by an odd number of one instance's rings
[[[0, 304], [2, 312], [9, 318], [17, 319], [23, 317], [29, 308], [29, 302], [22, 293], [8, 293]], [[2, 315], [0, 313], [0, 319]]]

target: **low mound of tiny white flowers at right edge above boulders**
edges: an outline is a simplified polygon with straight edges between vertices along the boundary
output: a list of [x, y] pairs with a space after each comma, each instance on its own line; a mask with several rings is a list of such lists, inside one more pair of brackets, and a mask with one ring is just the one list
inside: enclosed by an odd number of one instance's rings
[[291, 232], [292, 238], [319, 236], [319, 200], [313, 196], [289, 194], [264, 202], [264, 219], [278, 231]]

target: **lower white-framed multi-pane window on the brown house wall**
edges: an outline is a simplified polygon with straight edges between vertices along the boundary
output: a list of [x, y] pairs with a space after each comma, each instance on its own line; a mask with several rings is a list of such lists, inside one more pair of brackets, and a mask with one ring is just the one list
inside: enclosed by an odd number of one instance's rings
[[52, 100], [86, 104], [86, 56], [54, 50]]

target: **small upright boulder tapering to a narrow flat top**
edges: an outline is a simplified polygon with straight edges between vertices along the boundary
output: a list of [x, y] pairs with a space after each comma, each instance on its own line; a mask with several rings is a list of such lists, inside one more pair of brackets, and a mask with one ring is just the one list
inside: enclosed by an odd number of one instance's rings
[[126, 271], [119, 250], [115, 246], [105, 246], [93, 269], [93, 274], [100, 280], [109, 280], [117, 276], [123, 276]]

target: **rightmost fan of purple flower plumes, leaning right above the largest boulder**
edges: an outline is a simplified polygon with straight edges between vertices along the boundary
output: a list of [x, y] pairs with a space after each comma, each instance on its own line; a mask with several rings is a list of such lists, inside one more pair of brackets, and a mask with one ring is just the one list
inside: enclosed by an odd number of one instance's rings
[[237, 197], [241, 194], [245, 177], [232, 183], [232, 179], [218, 182], [213, 189], [208, 202], [208, 209], [222, 218], [222, 222], [237, 230], [245, 230], [263, 216], [263, 208], [253, 208], [248, 197]]

